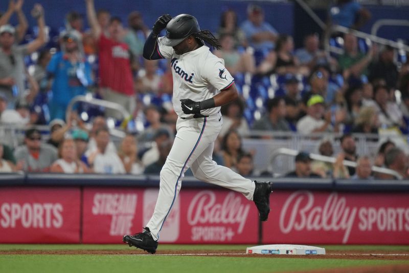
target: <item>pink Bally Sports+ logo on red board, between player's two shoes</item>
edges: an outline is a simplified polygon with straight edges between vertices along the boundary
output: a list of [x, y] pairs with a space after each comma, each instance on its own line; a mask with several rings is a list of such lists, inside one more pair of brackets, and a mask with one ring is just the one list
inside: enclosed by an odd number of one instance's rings
[[[201, 191], [190, 202], [188, 223], [192, 226], [193, 241], [231, 241], [243, 232], [250, 203], [243, 204], [235, 193], [225, 195], [217, 202], [216, 193]], [[234, 229], [229, 225], [237, 225]]]

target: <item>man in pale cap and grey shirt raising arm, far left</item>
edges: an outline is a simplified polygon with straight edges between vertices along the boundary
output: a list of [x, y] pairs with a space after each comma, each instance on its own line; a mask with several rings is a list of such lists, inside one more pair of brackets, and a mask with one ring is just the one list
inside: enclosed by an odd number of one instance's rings
[[29, 44], [17, 46], [15, 28], [11, 25], [0, 27], [0, 93], [7, 97], [9, 108], [14, 108], [14, 103], [22, 98], [25, 91], [24, 56], [33, 53], [46, 43], [42, 6], [36, 4], [32, 15], [37, 19], [39, 31], [37, 38]]

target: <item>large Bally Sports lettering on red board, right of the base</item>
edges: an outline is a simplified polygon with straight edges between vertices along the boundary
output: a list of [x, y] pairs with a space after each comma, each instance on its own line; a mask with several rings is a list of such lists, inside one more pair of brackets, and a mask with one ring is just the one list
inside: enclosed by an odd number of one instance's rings
[[[322, 203], [319, 202], [319, 203]], [[296, 232], [323, 231], [344, 233], [342, 243], [347, 243], [351, 231], [409, 232], [409, 208], [348, 206], [347, 198], [337, 193], [327, 196], [324, 205], [315, 204], [314, 194], [298, 191], [285, 201], [280, 214], [280, 230], [288, 234]], [[354, 226], [355, 220], [359, 221]]]

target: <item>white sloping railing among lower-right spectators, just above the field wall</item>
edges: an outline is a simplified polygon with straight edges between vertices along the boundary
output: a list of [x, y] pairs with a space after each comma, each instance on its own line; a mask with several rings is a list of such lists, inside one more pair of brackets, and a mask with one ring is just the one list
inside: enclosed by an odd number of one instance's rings
[[[279, 148], [274, 151], [274, 153], [271, 154], [271, 159], [270, 163], [272, 165], [272, 162], [276, 159], [277, 156], [279, 155], [288, 155], [288, 156], [297, 156], [299, 151], [293, 150], [293, 149], [288, 149], [288, 148]], [[323, 156], [319, 154], [313, 154], [310, 153], [310, 158], [313, 160], [317, 161], [323, 161], [323, 162], [328, 162], [328, 163], [335, 163], [336, 158], [335, 157], [329, 157], [329, 156]], [[354, 167], [356, 168], [357, 163], [354, 161], [349, 161], [349, 160], [344, 160], [343, 164], [348, 167]], [[378, 167], [378, 166], [372, 166], [372, 171], [377, 172], [377, 173], [382, 173], [382, 174], [388, 174], [388, 175], [393, 175], [397, 177], [398, 179], [402, 179], [402, 176], [397, 173], [394, 170], [383, 168], [383, 167]]]

